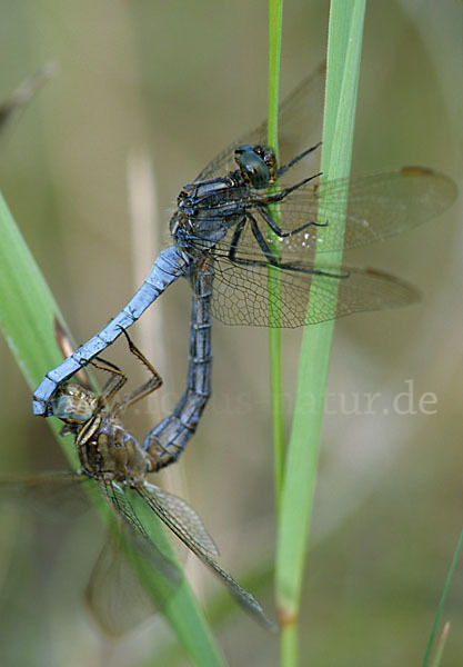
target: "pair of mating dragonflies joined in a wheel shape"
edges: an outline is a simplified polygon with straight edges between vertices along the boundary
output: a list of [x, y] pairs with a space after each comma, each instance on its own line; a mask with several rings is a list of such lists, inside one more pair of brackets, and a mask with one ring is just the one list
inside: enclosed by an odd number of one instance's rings
[[[316, 122], [322, 118], [323, 89], [324, 68], [319, 68], [280, 107], [281, 166], [264, 143], [263, 123], [222, 151], [183, 188], [170, 223], [173, 245], [159, 255], [147, 280], [122, 311], [46, 375], [33, 400], [36, 415], [59, 416], [60, 400], [64, 406], [71, 405], [67, 386], [61, 386], [137, 321], [169, 285], [180, 277], [190, 279], [193, 295], [189, 375], [178, 406], [148, 434], [142, 448], [129, 438], [127, 451], [131, 451], [133, 469], [125, 466], [122, 471], [114, 461], [109, 482], [109, 477], [101, 476], [95, 467], [94, 461], [101, 457], [95, 445], [91, 456], [81, 458], [81, 465], [110, 506], [139, 532], [137, 517], [125, 505], [124, 487], [134, 488], [180, 539], [187, 541], [188, 534], [190, 548], [264, 623], [266, 617], [259, 603], [212, 559], [214, 551], [210, 550], [210, 542], [203, 541], [205, 532], [202, 524], [199, 527], [197, 515], [190, 515], [195, 517], [195, 530], [187, 525], [185, 532], [182, 521], [188, 506], [180, 505], [182, 516], [173, 512], [172, 518], [173, 501], [144, 480], [148, 468], [157, 470], [178, 459], [201, 418], [211, 392], [211, 316], [229, 325], [296, 327], [411, 303], [417, 299], [416, 290], [397, 278], [373, 269], [324, 265], [320, 258], [323, 252], [356, 248], [410, 229], [441, 213], [456, 195], [451, 179], [419, 167], [318, 182], [321, 175], [316, 169], [309, 170], [309, 163], [319, 152]], [[311, 140], [306, 126], [313, 120], [316, 139]], [[312, 148], [298, 153], [302, 137], [305, 146]], [[302, 168], [306, 169], [305, 175], [298, 177]], [[276, 279], [268, 280], [269, 269]], [[87, 412], [90, 422], [102, 419], [101, 407], [119, 388], [120, 376], [114, 376], [113, 381], [103, 391], [104, 400], [97, 400], [95, 411], [91, 408]], [[150, 390], [154, 379], [151, 382]], [[133, 398], [129, 397], [125, 405]], [[108, 415], [104, 424], [115, 418], [111, 410]], [[127, 431], [121, 428], [125, 437]], [[85, 427], [76, 430], [77, 441], [85, 431]], [[119, 442], [115, 432], [111, 437]]]

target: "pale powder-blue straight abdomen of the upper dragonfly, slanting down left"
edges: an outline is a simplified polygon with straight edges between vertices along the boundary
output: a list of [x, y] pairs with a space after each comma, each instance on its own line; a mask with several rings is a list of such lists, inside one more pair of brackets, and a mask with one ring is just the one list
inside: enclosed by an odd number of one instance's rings
[[160, 252], [147, 280], [122, 311], [97, 336], [44, 376], [33, 395], [33, 414], [43, 417], [50, 416], [49, 400], [57, 388], [114, 342], [121, 330], [133, 325], [171, 282], [188, 273], [189, 268], [190, 261], [181, 255], [175, 246]]

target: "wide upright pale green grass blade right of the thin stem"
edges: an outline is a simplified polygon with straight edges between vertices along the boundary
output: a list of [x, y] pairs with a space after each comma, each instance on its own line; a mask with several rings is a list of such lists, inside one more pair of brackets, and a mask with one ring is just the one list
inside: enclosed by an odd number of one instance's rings
[[[331, 3], [322, 155], [326, 180], [350, 171], [364, 10], [365, 0]], [[341, 255], [324, 253], [324, 261], [336, 265]], [[302, 344], [278, 535], [276, 600], [283, 626], [295, 624], [299, 611], [332, 334], [333, 321], [308, 327]], [[293, 637], [285, 667], [296, 664], [294, 643]]]

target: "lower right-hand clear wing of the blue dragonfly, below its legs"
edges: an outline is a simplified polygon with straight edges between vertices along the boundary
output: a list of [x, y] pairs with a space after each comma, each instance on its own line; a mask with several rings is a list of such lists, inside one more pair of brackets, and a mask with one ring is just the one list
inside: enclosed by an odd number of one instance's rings
[[227, 325], [293, 328], [354, 312], [407, 306], [420, 297], [411, 285], [374, 269], [325, 266], [318, 267], [318, 271], [314, 273], [313, 265], [294, 262], [290, 268], [274, 269], [279, 283], [269, 285], [264, 262], [240, 266], [218, 259], [212, 313]]

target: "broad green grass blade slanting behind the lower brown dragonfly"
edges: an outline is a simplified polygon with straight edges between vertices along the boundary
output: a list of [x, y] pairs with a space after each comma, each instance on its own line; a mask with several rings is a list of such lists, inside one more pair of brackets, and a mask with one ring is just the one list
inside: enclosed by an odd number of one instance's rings
[[[43, 374], [62, 360], [54, 338], [54, 318], [61, 322], [63, 319], [1, 195], [0, 238], [0, 325], [29, 386], [34, 388]], [[24, 410], [31, 410], [31, 404], [24, 406]], [[49, 422], [59, 430], [57, 420]], [[64, 448], [76, 465], [69, 439]], [[137, 507], [137, 511], [142, 515], [143, 508]], [[161, 549], [170, 549], [160, 521], [152, 512], [144, 525], [155, 530], [153, 538], [162, 541]], [[153, 569], [143, 573], [143, 586], [155, 600], [157, 596], [165, 597], [169, 593], [169, 584]], [[164, 605], [163, 614], [194, 665], [221, 667], [225, 664], [187, 579], [182, 579]]]

